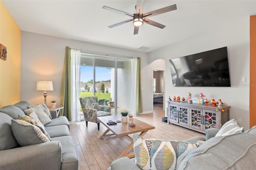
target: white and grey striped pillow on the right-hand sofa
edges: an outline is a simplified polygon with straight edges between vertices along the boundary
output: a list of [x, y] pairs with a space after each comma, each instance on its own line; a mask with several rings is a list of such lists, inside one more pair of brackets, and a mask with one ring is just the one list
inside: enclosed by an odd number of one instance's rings
[[222, 127], [220, 128], [218, 133], [215, 135], [215, 137], [231, 135], [231, 134], [240, 133], [243, 131], [244, 131], [244, 128], [240, 127], [237, 124], [235, 119], [231, 119], [230, 121], [227, 121], [226, 123], [224, 123], [224, 125], [222, 125]]

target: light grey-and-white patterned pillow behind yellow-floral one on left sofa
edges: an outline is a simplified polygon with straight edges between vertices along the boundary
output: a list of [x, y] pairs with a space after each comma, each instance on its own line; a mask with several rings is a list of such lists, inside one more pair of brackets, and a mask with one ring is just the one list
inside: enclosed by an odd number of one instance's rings
[[32, 112], [35, 112], [36, 115], [38, 116], [38, 119], [40, 120], [41, 123], [43, 123], [43, 125], [46, 125], [50, 122], [52, 122], [52, 120], [50, 119], [50, 117], [48, 115], [46, 115], [46, 113], [44, 112], [44, 110], [42, 109], [41, 106], [36, 105], [34, 107], [30, 107], [26, 110], [24, 110], [26, 115], [30, 115]]

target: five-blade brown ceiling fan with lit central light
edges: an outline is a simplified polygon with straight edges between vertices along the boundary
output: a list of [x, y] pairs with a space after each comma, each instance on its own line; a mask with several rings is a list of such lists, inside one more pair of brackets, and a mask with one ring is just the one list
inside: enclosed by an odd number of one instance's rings
[[163, 29], [165, 27], [165, 25], [162, 25], [161, 23], [157, 23], [157, 22], [152, 21], [152, 20], [148, 20], [148, 18], [152, 17], [152, 16], [156, 16], [158, 14], [163, 14], [163, 13], [166, 13], [166, 12], [177, 10], [177, 6], [176, 6], [176, 4], [174, 4], [174, 5], [171, 5], [171, 6], [167, 6], [167, 7], [158, 9], [158, 10], [154, 10], [154, 11], [142, 14], [143, 4], [144, 4], [144, 0], [137, 0], [137, 4], [135, 6], [135, 9], [136, 9], [135, 14], [129, 14], [127, 12], [123, 12], [123, 11], [120, 11], [120, 10], [116, 10], [114, 8], [110, 8], [108, 6], [103, 6], [102, 8], [105, 9], [105, 10], [110, 10], [112, 12], [117, 12], [119, 14], [123, 14], [123, 15], [129, 16], [129, 17], [132, 17], [132, 19], [130, 19], [130, 20], [122, 21], [120, 23], [116, 23], [116, 24], [110, 25], [108, 27], [113, 28], [113, 27], [116, 27], [118, 25], [122, 25], [124, 23], [133, 21], [133, 25], [134, 25], [133, 34], [134, 35], [138, 34], [139, 26], [141, 26], [143, 23], [147, 23], [149, 25], [153, 25], [155, 27]]

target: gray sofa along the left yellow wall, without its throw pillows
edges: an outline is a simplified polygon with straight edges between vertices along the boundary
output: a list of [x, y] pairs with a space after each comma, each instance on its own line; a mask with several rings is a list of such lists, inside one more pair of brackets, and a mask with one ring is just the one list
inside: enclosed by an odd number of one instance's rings
[[52, 141], [20, 147], [12, 133], [12, 119], [25, 115], [26, 101], [0, 109], [0, 169], [3, 170], [78, 170], [78, 156], [69, 130], [68, 119], [56, 117], [50, 111], [52, 121], [45, 130]]

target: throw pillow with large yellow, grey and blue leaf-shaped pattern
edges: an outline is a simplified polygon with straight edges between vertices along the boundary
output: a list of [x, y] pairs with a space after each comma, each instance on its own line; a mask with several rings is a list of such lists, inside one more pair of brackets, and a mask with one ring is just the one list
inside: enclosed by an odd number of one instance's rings
[[175, 170], [182, 159], [198, 147], [182, 141], [144, 139], [138, 134], [134, 134], [133, 140], [135, 162], [143, 170]]

